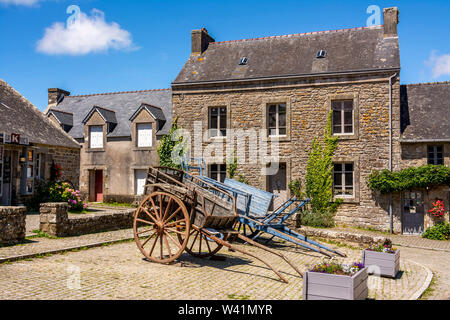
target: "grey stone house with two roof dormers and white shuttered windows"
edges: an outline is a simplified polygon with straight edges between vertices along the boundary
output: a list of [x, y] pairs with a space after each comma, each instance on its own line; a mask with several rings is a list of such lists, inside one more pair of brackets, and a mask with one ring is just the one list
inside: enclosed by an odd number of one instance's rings
[[46, 114], [81, 146], [80, 191], [92, 202], [138, 200], [172, 122], [171, 91], [71, 96], [48, 90]]

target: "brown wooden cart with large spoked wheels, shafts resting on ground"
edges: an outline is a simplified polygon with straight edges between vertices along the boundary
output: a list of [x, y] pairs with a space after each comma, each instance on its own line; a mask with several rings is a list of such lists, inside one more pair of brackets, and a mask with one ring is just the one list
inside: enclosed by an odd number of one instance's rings
[[222, 247], [260, 260], [288, 282], [267, 261], [231, 243], [240, 238], [283, 258], [300, 276], [302, 273], [283, 254], [257, 243], [235, 230], [238, 220], [236, 199], [225, 190], [183, 171], [149, 168], [146, 198], [134, 216], [134, 237], [150, 261], [169, 264], [183, 252], [199, 258], [212, 257]]

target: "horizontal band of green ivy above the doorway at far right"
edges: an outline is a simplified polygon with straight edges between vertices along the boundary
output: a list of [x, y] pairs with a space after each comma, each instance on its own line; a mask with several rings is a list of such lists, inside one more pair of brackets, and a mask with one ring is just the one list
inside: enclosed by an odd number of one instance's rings
[[373, 191], [382, 194], [415, 188], [427, 189], [439, 185], [450, 186], [450, 168], [443, 165], [428, 165], [397, 172], [373, 171], [368, 178], [368, 185]]

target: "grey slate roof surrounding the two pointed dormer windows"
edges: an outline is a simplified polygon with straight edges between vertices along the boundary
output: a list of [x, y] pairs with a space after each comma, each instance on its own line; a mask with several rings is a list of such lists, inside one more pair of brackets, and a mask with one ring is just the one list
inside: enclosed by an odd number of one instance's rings
[[99, 110], [108, 110], [109, 112], [102, 112], [103, 116], [109, 120], [114, 120], [112, 115], [115, 116], [117, 126], [108, 134], [108, 137], [129, 137], [131, 136], [130, 118], [143, 103], [160, 107], [167, 120], [157, 135], [169, 133], [172, 125], [172, 91], [170, 89], [67, 96], [52, 109], [73, 113], [74, 126], [69, 134], [75, 139], [83, 138], [83, 120], [94, 107]]

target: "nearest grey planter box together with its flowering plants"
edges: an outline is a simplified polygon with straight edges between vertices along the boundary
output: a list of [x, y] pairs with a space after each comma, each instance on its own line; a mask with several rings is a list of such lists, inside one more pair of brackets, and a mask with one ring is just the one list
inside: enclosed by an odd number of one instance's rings
[[367, 268], [323, 262], [303, 274], [303, 300], [365, 300], [369, 294]]

